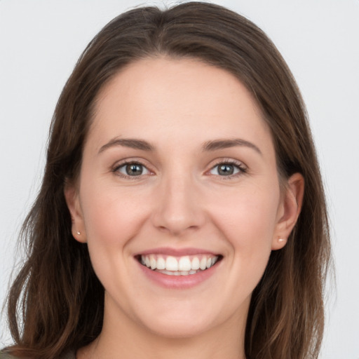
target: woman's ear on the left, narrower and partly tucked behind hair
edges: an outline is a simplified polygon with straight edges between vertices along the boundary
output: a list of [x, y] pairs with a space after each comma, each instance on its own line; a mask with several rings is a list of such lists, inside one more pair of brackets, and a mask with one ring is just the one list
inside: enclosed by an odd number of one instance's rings
[[76, 241], [86, 243], [86, 230], [79, 201], [79, 191], [73, 184], [66, 183], [64, 195], [71, 215], [72, 236], [74, 236]]

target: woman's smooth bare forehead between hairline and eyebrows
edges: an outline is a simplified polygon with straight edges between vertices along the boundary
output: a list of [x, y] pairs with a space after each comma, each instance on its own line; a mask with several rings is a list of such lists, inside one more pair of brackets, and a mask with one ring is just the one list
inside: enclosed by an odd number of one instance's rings
[[271, 137], [255, 100], [235, 76], [199, 60], [168, 57], [121, 69], [97, 96], [89, 135], [98, 142], [134, 134], [158, 141], [170, 130], [198, 141]]

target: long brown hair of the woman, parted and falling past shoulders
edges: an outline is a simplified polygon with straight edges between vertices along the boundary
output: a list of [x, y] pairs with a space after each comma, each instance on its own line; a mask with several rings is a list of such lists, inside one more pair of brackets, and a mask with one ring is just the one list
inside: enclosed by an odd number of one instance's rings
[[59, 358], [100, 334], [104, 288], [86, 245], [72, 237], [64, 186], [79, 175], [100, 89], [130, 62], [157, 55], [195, 58], [236, 76], [255, 97], [271, 128], [280, 177], [302, 173], [302, 212], [285, 248], [271, 253], [252, 293], [245, 353], [248, 359], [318, 358], [330, 241], [302, 97], [262, 30], [226, 8], [199, 2], [165, 11], [128, 11], [109, 22], [81, 55], [57, 103], [43, 184], [22, 229], [28, 257], [8, 295], [15, 344], [6, 351]]

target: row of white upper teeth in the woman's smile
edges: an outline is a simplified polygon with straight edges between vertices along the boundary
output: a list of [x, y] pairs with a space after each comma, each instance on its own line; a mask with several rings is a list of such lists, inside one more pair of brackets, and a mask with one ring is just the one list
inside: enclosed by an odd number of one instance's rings
[[166, 271], [196, 271], [198, 269], [210, 268], [217, 262], [218, 256], [201, 255], [201, 256], [184, 256], [172, 257], [161, 255], [142, 255], [141, 262], [151, 269], [165, 269]]

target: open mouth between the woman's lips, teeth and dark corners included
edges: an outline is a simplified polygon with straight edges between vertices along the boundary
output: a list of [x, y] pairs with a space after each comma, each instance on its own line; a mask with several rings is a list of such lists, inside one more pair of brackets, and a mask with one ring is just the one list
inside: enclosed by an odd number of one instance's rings
[[168, 276], [189, 276], [206, 271], [215, 266], [222, 255], [186, 255], [173, 257], [166, 255], [138, 255], [136, 259], [142, 266]]

